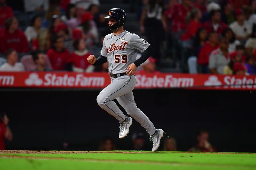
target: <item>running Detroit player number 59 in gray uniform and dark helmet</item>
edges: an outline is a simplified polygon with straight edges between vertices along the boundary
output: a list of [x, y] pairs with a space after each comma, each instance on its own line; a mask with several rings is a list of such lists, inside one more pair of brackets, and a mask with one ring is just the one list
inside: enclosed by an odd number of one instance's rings
[[[136, 106], [132, 90], [135, 87], [134, 76], [137, 67], [145, 62], [154, 52], [154, 49], [136, 34], [124, 31], [123, 25], [126, 21], [126, 13], [120, 8], [112, 8], [108, 12], [108, 24], [113, 33], [105, 36], [100, 56], [96, 59], [90, 55], [87, 60], [93, 65], [100, 65], [108, 62], [111, 83], [103, 89], [97, 97], [99, 106], [114, 116], [120, 123], [119, 138], [124, 138], [129, 133], [132, 125], [132, 118], [125, 116], [116, 103], [120, 105], [143, 126], [150, 135], [149, 140], [153, 142], [152, 152], [156, 151], [163, 137], [162, 129], [155, 129], [153, 123]], [[154, 35], [153, 35], [154, 36]], [[136, 60], [137, 51], [142, 53]]]

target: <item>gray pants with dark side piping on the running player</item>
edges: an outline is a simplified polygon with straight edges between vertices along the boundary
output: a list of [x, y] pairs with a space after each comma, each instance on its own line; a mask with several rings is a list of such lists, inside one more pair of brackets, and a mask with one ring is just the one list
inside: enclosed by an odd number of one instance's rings
[[155, 127], [148, 117], [137, 107], [132, 90], [136, 84], [136, 78], [132, 76], [120, 76], [111, 78], [111, 83], [104, 88], [97, 97], [99, 106], [114, 116], [119, 122], [126, 118], [124, 113], [112, 100], [117, 99], [120, 105], [125, 109], [128, 115], [133, 117], [143, 126], [149, 135], [155, 133]]

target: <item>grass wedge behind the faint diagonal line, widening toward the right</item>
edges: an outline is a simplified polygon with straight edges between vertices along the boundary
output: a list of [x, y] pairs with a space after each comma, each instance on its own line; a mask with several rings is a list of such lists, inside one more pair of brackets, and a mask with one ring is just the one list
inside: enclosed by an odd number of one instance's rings
[[211, 154], [211, 153], [86, 153], [86, 154], [0, 154], [6, 156], [24, 156], [40, 158], [66, 158], [97, 161], [122, 161], [137, 163], [169, 163], [169, 164], [193, 164], [207, 166], [239, 166], [256, 169], [256, 154]]

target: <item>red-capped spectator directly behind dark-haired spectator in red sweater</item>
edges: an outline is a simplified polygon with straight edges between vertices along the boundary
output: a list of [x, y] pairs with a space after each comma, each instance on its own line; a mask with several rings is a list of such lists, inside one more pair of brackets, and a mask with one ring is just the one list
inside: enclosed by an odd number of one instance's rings
[[65, 23], [61, 22], [54, 28], [54, 33], [57, 36], [62, 36], [64, 38], [64, 48], [66, 48], [70, 53], [74, 51], [73, 39], [69, 35], [68, 27]]

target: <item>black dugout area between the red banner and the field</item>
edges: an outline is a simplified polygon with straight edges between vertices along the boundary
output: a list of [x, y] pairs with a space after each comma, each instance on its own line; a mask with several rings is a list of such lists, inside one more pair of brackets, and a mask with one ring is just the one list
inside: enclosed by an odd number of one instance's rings
[[[6, 89], [5, 89], [6, 90]], [[119, 123], [96, 102], [100, 90], [9, 89], [0, 92], [13, 132], [6, 149], [97, 150], [104, 136], [117, 149], [132, 149], [131, 137], [145, 129], [136, 121], [130, 134], [118, 138]], [[196, 145], [196, 135], [209, 130], [210, 143], [219, 152], [256, 152], [255, 91], [184, 89], [134, 90], [138, 107], [177, 140], [179, 151]], [[253, 111], [254, 110], [254, 111]], [[146, 148], [152, 147], [146, 135]], [[162, 144], [163, 145], [163, 144]]]

